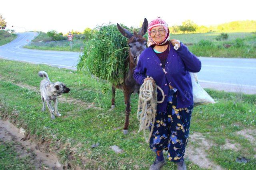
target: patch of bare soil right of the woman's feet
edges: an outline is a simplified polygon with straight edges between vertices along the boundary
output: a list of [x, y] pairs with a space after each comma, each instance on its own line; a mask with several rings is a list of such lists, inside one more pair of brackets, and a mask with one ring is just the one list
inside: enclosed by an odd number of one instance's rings
[[[193, 147], [192, 143], [197, 143], [198, 147]], [[207, 158], [206, 150], [210, 149], [213, 144], [206, 141], [205, 137], [201, 133], [193, 133], [188, 139], [188, 145], [186, 147], [186, 154], [189, 160], [194, 164], [197, 164], [200, 168], [222, 170], [221, 166], [214, 164]]]

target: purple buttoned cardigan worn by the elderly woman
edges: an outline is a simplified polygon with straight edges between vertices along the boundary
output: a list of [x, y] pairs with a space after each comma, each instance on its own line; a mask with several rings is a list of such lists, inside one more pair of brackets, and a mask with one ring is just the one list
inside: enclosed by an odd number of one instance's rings
[[[143, 84], [146, 76], [153, 77], [156, 84], [164, 91], [164, 102], [157, 105], [157, 112], [166, 112], [167, 97], [170, 84], [178, 89], [177, 108], [185, 108], [193, 104], [192, 84], [190, 72], [199, 72], [201, 61], [190, 51], [186, 45], [180, 43], [180, 48], [176, 51], [170, 44], [170, 52], [166, 59], [165, 72], [160, 65], [160, 59], [154, 53], [152, 47], [145, 49], [134, 70], [134, 79], [138, 84]], [[162, 94], [157, 89], [158, 101], [162, 100]]]

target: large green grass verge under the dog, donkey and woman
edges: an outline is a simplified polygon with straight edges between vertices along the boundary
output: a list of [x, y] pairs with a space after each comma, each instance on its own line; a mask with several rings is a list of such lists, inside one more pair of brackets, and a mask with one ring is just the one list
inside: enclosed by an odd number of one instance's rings
[[[61, 81], [71, 88], [70, 93], [63, 96], [84, 102], [94, 102], [101, 109], [79, 109], [78, 104], [60, 102], [58, 109], [63, 116], [50, 120], [48, 110], [41, 112], [39, 84], [42, 79], [37, 75], [40, 70], [48, 72], [52, 82]], [[33, 86], [38, 91], [34, 92], [16, 84]], [[218, 103], [194, 108], [190, 133], [202, 133], [205, 140], [214, 143], [206, 153], [208, 153], [208, 159], [215, 164], [230, 169], [236, 169], [236, 167], [255, 169], [256, 145], [249, 139], [237, 135], [237, 132], [244, 129], [256, 130], [256, 95], [206, 90]], [[89, 74], [80, 75], [73, 70], [1, 59], [0, 91], [0, 104], [3, 105], [0, 108], [2, 117], [9, 117], [17, 126], [22, 126], [31, 135], [35, 134], [38, 140], [52, 140], [52, 147], [56, 145], [54, 141], [60, 141], [60, 146], [68, 143], [70, 148], [76, 148], [77, 157], [82, 155], [94, 160], [94, 162], [88, 162], [85, 168], [101, 166], [106, 169], [148, 169], [154, 161], [155, 154], [144, 142], [142, 133], [137, 133], [137, 94], [132, 95], [131, 98], [129, 134], [123, 135], [125, 106], [122, 92], [117, 90], [116, 108], [110, 110], [110, 84], [96, 80]], [[14, 110], [18, 111], [18, 114], [12, 113]], [[226, 143], [226, 139], [238, 143], [239, 150], [220, 149]], [[91, 145], [97, 142], [100, 145], [91, 148]], [[123, 149], [123, 152], [116, 154], [109, 148], [112, 145], [117, 145]], [[188, 145], [191, 145], [190, 142]], [[61, 148], [60, 146], [58, 147]], [[68, 161], [72, 152], [74, 151], [70, 151], [68, 147], [61, 148], [59, 156], [62, 161]], [[250, 161], [239, 164], [236, 162], [237, 156], [244, 156]], [[81, 165], [79, 159], [76, 163]], [[191, 169], [200, 169], [188, 160], [186, 163]], [[174, 169], [175, 164], [168, 162], [163, 169], [170, 168]]]

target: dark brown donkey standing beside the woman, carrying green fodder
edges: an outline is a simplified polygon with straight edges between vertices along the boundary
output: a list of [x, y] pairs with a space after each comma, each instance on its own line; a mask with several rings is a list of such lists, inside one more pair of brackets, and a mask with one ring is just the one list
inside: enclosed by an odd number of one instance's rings
[[142, 24], [142, 27], [140, 28], [140, 31], [138, 33], [134, 31], [133, 34], [127, 29], [121, 27], [118, 23], [116, 25], [120, 33], [124, 37], [128, 38], [129, 56], [126, 58], [124, 64], [125, 64], [125, 67], [127, 66], [129, 67], [129, 71], [125, 73], [124, 81], [122, 84], [117, 84], [117, 85], [112, 84], [111, 108], [114, 109], [115, 107], [116, 88], [122, 89], [122, 91], [124, 92], [124, 103], [126, 104], [126, 109], [125, 109], [126, 118], [125, 118], [123, 133], [126, 135], [128, 134], [129, 115], [131, 111], [130, 97], [132, 93], [136, 93], [136, 92], [139, 93], [139, 90], [140, 90], [140, 84], [138, 84], [134, 80], [133, 72], [139, 61], [140, 53], [142, 53], [142, 51], [146, 49], [147, 41], [143, 37], [143, 35], [147, 32], [148, 20], [145, 18]]

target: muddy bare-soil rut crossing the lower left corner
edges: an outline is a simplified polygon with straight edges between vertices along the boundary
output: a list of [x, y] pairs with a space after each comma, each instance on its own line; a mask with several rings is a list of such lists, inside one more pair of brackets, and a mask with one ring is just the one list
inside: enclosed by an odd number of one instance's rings
[[9, 121], [0, 119], [0, 139], [4, 142], [14, 142], [16, 152], [22, 157], [31, 156], [31, 163], [37, 169], [62, 169], [56, 155], [40, 151], [31, 139], [26, 140], [24, 129], [18, 129]]

